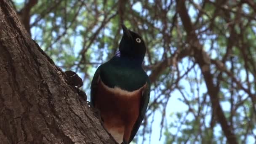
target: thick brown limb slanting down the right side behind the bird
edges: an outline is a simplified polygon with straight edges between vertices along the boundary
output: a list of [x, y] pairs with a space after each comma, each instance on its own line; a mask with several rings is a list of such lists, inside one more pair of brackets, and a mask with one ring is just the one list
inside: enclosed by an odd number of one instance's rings
[[194, 58], [199, 65], [203, 77], [205, 79], [206, 87], [208, 89], [208, 94], [211, 99], [212, 109], [217, 117], [218, 122], [221, 125], [222, 131], [224, 132], [227, 141], [229, 144], [238, 144], [236, 140], [235, 134], [232, 132], [230, 125], [227, 122], [227, 119], [224, 115], [224, 112], [221, 108], [218, 93], [219, 88], [217, 88], [213, 84], [213, 75], [210, 72], [210, 58], [207, 53], [203, 51], [203, 46], [200, 44], [197, 39], [197, 35], [195, 34], [195, 30], [193, 28], [193, 24], [191, 19], [187, 13], [187, 8], [185, 6], [185, 0], [176, 0], [177, 3], [177, 11], [179, 16], [181, 17], [182, 24], [184, 26], [185, 31], [187, 32], [187, 41], [190, 45], [192, 45], [192, 49], [195, 52]]

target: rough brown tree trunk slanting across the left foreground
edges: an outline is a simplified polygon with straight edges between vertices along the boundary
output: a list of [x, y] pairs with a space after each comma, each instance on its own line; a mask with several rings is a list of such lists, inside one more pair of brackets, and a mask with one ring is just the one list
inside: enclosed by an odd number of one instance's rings
[[115, 143], [64, 77], [0, 0], [1, 144]]

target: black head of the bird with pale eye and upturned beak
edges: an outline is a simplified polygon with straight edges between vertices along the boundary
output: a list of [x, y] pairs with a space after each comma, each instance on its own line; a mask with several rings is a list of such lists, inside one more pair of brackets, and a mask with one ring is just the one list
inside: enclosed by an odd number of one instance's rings
[[122, 28], [123, 37], [119, 44], [120, 55], [143, 61], [146, 53], [146, 46], [142, 37], [139, 34], [128, 30], [123, 24]]

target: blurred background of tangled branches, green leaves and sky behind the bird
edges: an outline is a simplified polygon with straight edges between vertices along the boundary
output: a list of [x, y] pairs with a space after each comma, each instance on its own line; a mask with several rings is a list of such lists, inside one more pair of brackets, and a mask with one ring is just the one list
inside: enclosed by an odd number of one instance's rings
[[120, 23], [142, 35], [152, 92], [139, 143], [256, 141], [253, 0], [12, 2], [32, 39], [78, 72], [87, 94], [96, 67], [117, 51]]

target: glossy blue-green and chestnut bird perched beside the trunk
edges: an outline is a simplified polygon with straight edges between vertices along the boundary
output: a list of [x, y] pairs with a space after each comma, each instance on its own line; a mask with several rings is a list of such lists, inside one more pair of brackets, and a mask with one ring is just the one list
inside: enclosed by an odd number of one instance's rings
[[146, 46], [141, 36], [122, 24], [119, 51], [96, 70], [91, 104], [99, 110], [104, 127], [121, 144], [130, 143], [144, 119], [150, 82], [141, 65]]

